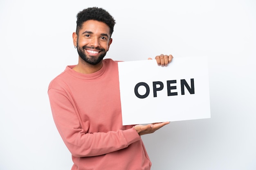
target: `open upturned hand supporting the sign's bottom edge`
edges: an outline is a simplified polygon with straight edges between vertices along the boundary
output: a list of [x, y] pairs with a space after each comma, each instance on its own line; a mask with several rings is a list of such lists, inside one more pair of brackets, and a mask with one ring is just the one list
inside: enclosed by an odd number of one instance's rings
[[153, 124], [147, 124], [147, 125], [138, 124], [134, 126], [134, 128], [139, 135], [145, 135], [149, 133], [154, 133], [156, 130], [160, 129], [161, 127], [169, 123], [170, 122], [153, 123]]

